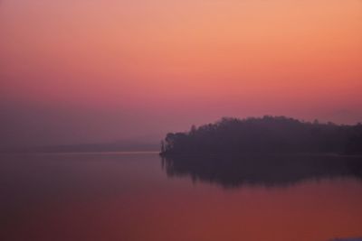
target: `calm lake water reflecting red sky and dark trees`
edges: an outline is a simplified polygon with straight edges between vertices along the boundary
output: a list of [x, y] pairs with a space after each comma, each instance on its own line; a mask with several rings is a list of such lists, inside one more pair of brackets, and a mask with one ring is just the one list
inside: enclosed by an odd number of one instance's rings
[[220, 165], [161, 160], [157, 153], [2, 154], [0, 240], [362, 236], [362, 162], [286, 159], [292, 164], [271, 158], [272, 164], [258, 169], [266, 161]]

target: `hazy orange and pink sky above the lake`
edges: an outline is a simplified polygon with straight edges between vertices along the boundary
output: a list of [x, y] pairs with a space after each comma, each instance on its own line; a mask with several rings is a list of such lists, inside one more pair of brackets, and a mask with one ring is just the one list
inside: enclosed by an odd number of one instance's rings
[[0, 0], [0, 146], [355, 124], [361, 93], [360, 0]]

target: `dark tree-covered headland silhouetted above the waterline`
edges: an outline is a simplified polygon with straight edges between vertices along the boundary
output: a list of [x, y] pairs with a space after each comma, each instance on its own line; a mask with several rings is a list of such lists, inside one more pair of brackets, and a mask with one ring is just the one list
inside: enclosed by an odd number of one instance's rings
[[285, 116], [224, 117], [168, 133], [161, 155], [200, 153], [362, 153], [362, 125], [303, 122]]

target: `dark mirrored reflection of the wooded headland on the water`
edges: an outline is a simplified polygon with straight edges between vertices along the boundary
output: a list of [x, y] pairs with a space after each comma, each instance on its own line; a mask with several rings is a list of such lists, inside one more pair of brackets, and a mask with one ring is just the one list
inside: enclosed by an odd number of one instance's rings
[[362, 158], [338, 155], [174, 156], [162, 158], [168, 177], [189, 176], [224, 188], [288, 186], [308, 179], [362, 180]]

